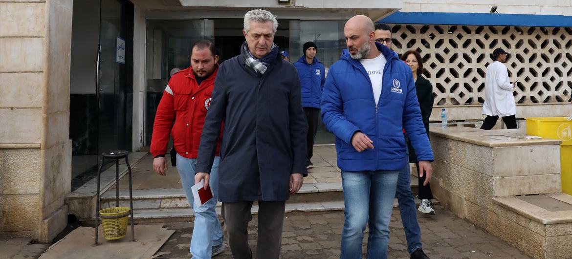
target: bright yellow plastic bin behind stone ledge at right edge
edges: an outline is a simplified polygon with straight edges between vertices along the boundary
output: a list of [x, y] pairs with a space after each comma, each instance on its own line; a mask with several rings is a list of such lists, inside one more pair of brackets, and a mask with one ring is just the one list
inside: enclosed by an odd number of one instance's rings
[[562, 192], [572, 195], [572, 121], [566, 117], [526, 118], [526, 134], [562, 141]]

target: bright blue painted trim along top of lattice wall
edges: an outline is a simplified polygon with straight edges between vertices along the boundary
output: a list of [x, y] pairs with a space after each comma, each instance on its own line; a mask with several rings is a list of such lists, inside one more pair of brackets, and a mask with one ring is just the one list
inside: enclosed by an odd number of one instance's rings
[[572, 27], [572, 16], [491, 13], [396, 12], [378, 22], [427, 25]]

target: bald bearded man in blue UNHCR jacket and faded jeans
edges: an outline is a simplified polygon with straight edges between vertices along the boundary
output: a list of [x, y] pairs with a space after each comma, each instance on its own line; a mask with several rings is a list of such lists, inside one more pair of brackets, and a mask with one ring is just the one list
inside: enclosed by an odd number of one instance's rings
[[[403, 129], [412, 140], [421, 172], [434, 160], [411, 69], [375, 42], [374, 23], [357, 15], [345, 23], [348, 49], [324, 85], [322, 121], [336, 135], [344, 192], [340, 258], [361, 258], [370, 228], [368, 258], [387, 258], [389, 224], [399, 171], [406, 165]], [[375, 148], [374, 148], [375, 147]]]

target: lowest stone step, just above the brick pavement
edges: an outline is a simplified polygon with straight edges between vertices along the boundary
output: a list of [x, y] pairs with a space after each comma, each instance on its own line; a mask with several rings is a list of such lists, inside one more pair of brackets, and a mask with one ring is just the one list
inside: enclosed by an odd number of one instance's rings
[[[415, 200], [415, 205], [419, 206], [419, 200]], [[433, 205], [439, 205], [439, 200], [432, 200]], [[397, 198], [394, 200], [394, 208], [399, 208]], [[287, 202], [285, 213], [290, 212], [323, 212], [344, 210], [343, 201], [326, 202]], [[217, 215], [221, 217], [221, 208], [217, 206]], [[251, 209], [252, 214], [258, 214], [258, 204], [254, 202]], [[399, 212], [394, 212], [399, 213]], [[140, 223], [158, 222], [180, 222], [194, 220], [193, 210], [190, 208], [168, 208], [168, 209], [134, 209], [134, 218]]]

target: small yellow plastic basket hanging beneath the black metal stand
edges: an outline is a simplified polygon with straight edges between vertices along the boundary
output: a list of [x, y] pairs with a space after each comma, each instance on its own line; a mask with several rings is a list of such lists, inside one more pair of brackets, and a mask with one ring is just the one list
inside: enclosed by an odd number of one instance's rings
[[128, 216], [128, 207], [112, 207], [100, 210], [101, 225], [104, 228], [106, 240], [118, 240], [125, 237]]

